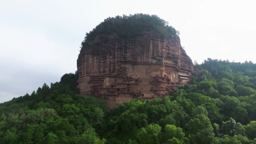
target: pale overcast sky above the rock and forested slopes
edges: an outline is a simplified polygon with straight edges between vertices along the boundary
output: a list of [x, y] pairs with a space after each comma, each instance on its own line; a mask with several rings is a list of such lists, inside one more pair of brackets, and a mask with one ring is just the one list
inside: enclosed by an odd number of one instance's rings
[[79, 46], [109, 16], [155, 14], [192, 61], [256, 63], [255, 0], [0, 0], [0, 102], [76, 71]]

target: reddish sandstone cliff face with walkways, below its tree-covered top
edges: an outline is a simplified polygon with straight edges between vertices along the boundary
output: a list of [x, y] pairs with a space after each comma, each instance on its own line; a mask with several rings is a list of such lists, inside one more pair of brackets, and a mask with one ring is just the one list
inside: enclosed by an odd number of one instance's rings
[[110, 108], [132, 98], [156, 98], [186, 83], [193, 64], [180, 45], [179, 36], [158, 33], [107, 42], [96, 37], [80, 50], [78, 87], [82, 95], [105, 98]]

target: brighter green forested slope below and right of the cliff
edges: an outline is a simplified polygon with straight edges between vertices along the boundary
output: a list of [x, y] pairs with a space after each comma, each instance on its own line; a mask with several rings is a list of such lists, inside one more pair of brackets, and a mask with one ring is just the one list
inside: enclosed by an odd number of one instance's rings
[[98, 133], [109, 144], [255, 144], [255, 66], [208, 59], [170, 96], [116, 107]]

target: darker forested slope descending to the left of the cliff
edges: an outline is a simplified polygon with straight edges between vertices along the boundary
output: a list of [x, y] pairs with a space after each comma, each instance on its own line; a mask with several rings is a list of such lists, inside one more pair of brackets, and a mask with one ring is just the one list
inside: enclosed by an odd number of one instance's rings
[[95, 128], [103, 122], [104, 101], [77, 94], [76, 74], [51, 87], [0, 104], [1, 144], [103, 144]]

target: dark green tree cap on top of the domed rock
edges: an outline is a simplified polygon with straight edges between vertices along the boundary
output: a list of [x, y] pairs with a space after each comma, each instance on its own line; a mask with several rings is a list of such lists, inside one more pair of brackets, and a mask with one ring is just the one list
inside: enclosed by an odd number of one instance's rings
[[92, 31], [86, 33], [82, 47], [92, 45], [96, 36], [106, 41], [109, 34], [116, 34], [121, 39], [130, 39], [140, 36], [143, 31], [156, 31], [167, 37], [176, 34], [176, 30], [168, 25], [168, 22], [156, 15], [137, 13], [134, 15], [123, 15], [109, 17], [97, 25]]

